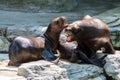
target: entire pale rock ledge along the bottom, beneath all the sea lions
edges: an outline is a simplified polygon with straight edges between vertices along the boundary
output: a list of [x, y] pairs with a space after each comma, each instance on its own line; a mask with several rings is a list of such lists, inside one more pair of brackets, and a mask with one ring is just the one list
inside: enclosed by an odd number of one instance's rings
[[65, 60], [58, 64], [39, 60], [13, 67], [7, 66], [6, 60], [0, 62], [0, 80], [120, 80], [120, 51], [108, 55], [106, 62], [104, 68]]

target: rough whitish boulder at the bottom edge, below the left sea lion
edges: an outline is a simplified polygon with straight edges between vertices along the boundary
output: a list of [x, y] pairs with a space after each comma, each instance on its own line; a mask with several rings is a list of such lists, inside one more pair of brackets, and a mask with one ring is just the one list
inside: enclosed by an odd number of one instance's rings
[[[39, 64], [38, 64], [39, 63]], [[40, 60], [25, 63], [18, 68], [18, 75], [27, 79], [37, 80], [64, 80], [68, 79], [66, 69], [62, 69], [53, 63]]]

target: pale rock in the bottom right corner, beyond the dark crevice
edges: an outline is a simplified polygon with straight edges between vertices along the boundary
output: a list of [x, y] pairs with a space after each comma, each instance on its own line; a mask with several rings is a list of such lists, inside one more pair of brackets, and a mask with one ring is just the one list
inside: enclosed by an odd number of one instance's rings
[[106, 64], [104, 66], [105, 72], [108, 76], [112, 76], [115, 80], [120, 80], [120, 51], [106, 57]]

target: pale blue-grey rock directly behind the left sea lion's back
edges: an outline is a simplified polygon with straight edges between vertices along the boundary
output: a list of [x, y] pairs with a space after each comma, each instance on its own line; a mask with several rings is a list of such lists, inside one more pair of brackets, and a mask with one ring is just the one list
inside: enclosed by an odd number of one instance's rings
[[9, 39], [14, 39], [18, 36], [40, 36], [46, 31], [47, 27], [42, 26], [34, 26], [30, 28], [20, 28], [19, 30], [17, 28], [9, 29], [8, 28], [8, 35], [7, 37]]

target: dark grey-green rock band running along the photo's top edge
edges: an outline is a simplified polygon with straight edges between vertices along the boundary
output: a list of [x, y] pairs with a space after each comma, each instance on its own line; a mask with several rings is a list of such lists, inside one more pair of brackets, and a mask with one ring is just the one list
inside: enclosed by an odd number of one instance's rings
[[119, 6], [119, 0], [0, 0], [0, 9], [23, 12], [82, 12], [96, 14]]

